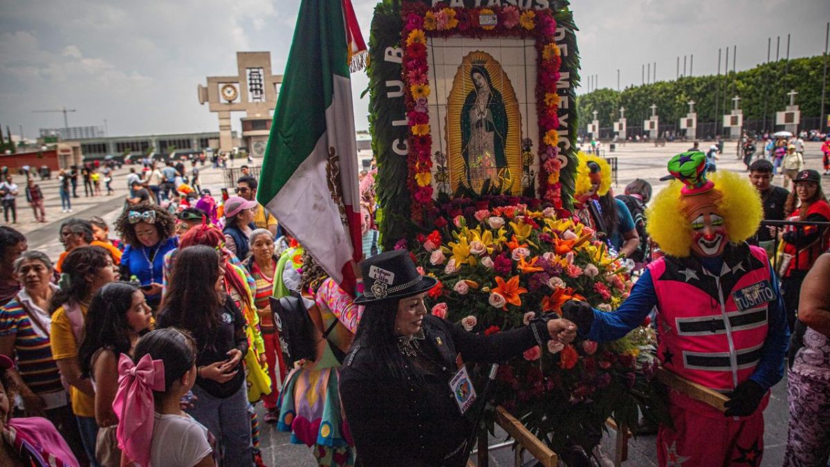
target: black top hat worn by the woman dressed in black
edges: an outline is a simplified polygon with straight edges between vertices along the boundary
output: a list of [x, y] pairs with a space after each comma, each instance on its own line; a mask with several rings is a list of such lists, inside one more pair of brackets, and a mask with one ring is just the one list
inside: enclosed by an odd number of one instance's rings
[[422, 276], [407, 250], [377, 254], [360, 263], [364, 278], [364, 295], [355, 303], [403, 298], [435, 287], [436, 278]]

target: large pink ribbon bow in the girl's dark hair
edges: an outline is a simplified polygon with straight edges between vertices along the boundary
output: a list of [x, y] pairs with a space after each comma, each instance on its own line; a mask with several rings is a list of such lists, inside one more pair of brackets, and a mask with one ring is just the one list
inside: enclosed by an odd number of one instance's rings
[[115, 437], [129, 460], [149, 465], [153, 440], [153, 391], [164, 391], [164, 361], [153, 360], [149, 354], [138, 364], [121, 354], [118, 361], [118, 392], [112, 410], [118, 416]]

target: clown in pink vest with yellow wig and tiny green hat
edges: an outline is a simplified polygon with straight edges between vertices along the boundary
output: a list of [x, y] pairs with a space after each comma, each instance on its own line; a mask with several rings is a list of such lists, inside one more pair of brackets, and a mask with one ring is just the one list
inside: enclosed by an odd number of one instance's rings
[[666, 256], [648, 263], [617, 310], [571, 301], [562, 312], [582, 337], [608, 342], [656, 308], [662, 369], [728, 398], [714, 404], [684, 390], [691, 384], [676, 386], [668, 396], [672, 426], [657, 432], [659, 465], [757, 464], [764, 408], [784, 376], [789, 342], [778, 279], [764, 249], [745, 242], [762, 218], [759, 195], [738, 174], [706, 179], [702, 152], [676, 155], [669, 172], [675, 180], [647, 211], [647, 230]]

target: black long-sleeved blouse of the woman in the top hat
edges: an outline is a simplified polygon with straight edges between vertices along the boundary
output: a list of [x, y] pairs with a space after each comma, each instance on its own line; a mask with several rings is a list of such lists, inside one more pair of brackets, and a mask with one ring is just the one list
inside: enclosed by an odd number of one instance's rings
[[390, 376], [359, 343], [346, 357], [339, 390], [359, 465], [464, 465], [463, 444], [473, 427], [449, 387], [457, 354], [466, 362], [494, 363], [550, 339], [543, 321], [483, 336], [427, 315], [423, 331], [422, 350], [408, 357], [406, 369], [413, 373], [405, 379]]

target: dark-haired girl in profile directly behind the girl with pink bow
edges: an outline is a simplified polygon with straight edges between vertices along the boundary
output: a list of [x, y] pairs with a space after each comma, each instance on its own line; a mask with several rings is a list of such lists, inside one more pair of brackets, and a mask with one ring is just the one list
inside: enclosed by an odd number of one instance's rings
[[99, 426], [95, 459], [100, 465], [120, 464], [115, 441], [118, 419], [112, 410], [118, 390], [118, 356], [132, 353], [151, 316], [144, 293], [131, 283], [105, 285], [92, 297], [86, 314], [78, 359], [82, 376], [95, 385], [95, 422]]

